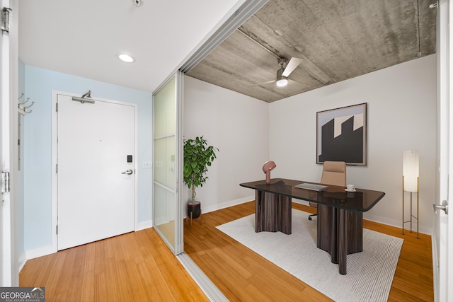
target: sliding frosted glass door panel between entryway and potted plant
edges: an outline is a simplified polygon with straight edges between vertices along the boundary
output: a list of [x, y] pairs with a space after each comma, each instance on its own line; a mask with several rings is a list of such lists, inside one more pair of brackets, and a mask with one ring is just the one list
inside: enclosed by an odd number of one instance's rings
[[154, 178], [153, 224], [175, 255], [183, 252], [183, 215], [180, 207], [183, 74], [178, 72], [153, 95]]

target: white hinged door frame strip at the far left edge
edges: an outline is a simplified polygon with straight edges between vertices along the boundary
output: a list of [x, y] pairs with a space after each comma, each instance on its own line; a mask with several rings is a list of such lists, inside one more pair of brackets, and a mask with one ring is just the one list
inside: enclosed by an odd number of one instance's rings
[[[18, 286], [18, 195], [17, 195], [17, 101], [18, 101], [18, 5], [15, 0], [0, 0], [0, 9], [11, 8], [9, 32], [0, 33], [1, 83], [0, 134], [3, 148], [0, 170], [9, 172], [10, 192], [0, 194], [1, 217], [0, 286]], [[1, 202], [4, 200], [4, 202]], [[23, 238], [22, 238], [23, 239]]]

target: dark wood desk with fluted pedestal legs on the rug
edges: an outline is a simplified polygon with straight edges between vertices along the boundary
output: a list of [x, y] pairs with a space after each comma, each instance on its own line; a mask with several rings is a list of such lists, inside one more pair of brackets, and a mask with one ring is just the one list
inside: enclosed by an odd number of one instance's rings
[[[317, 246], [331, 254], [340, 274], [346, 274], [346, 256], [363, 250], [363, 212], [384, 197], [384, 192], [329, 185], [323, 192], [294, 187], [303, 180], [275, 178], [241, 183], [256, 190], [255, 231], [291, 233], [291, 200], [302, 199], [318, 204]], [[316, 183], [316, 182], [310, 182]]]

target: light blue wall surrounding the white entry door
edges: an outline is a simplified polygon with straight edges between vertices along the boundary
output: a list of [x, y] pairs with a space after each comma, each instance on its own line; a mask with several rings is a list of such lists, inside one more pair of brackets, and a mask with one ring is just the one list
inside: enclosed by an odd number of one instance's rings
[[151, 221], [152, 94], [109, 83], [25, 66], [25, 95], [35, 102], [25, 117], [24, 143], [24, 248], [52, 244], [52, 90], [138, 105], [138, 222]]

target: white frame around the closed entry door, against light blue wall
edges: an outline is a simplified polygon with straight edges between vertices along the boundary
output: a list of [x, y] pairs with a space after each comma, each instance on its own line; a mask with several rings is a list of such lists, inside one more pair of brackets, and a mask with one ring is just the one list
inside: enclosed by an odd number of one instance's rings
[[[58, 198], [57, 198], [57, 189], [58, 189], [58, 175], [56, 173], [56, 166], [58, 163], [57, 158], [57, 95], [68, 95], [68, 96], [75, 96], [80, 97], [80, 94], [75, 93], [67, 93], [64, 91], [55, 91], [52, 90], [52, 245], [50, 252], [57, 252], [58, 250], [58, 236], [57, 236], [57, 223], [58, 223]], [[137, 104], [134, 103], [127, 103], [127, 102], [120, 102], [117, 100], [109, 100], [106, 98], [98, 98], [93, 97], [94, 100], [103, 100], [105, 102], [110, 103], [117, 103], [117, 104], [125, 104], [134, 106], [134, 120], [135, 120], [135, 146], [134, 146], [134, 169], [135, 169], [135, 184], [134, 184], [134, 231], [139, 230], [138, 225], [138, 178], [139, 178], [139, 169], [138, 163], [139, 158], [138, 154], [138, 111], [137, 111]], [[150, 184], [151, 185], [151, 184]]]

